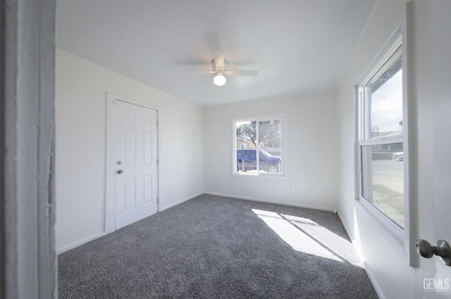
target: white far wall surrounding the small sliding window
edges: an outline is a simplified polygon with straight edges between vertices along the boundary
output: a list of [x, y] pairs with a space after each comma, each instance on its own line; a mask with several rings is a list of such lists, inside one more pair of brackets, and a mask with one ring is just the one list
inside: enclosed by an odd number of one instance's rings
[[[285, 178], [232, 176], [232, 119], [277, 113], [286, 115]], [[319, 209], [338, 207], [334, 90], [209, 106], [204, 120], [206, 193]]]

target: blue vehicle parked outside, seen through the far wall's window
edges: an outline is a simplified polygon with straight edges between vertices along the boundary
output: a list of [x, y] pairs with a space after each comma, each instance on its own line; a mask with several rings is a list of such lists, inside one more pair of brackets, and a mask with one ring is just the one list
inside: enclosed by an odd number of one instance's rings
[[[280, 157], [259, 150], [259, 169], [270, 173], [280, 172]], [[257, 150], [237, 150], [237, 171], [257, 170]]]

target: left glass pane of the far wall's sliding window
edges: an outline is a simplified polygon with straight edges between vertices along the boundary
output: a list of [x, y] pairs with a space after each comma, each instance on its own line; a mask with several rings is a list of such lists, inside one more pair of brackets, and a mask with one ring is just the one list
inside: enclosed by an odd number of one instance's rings
[[237, 168], [241, 172], [257, 172], [257, 121], [235, 123], [237, 145]]

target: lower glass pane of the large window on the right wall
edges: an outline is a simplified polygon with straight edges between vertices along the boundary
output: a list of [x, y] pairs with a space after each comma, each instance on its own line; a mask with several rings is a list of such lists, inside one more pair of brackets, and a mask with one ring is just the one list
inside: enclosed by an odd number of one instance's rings
[[402, 142], [362, 146], [362, 196], [404, 228]]

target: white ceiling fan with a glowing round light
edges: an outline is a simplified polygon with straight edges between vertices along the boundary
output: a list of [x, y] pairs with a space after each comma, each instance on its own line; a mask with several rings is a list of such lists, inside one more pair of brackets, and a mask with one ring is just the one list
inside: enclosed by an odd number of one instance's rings
[[213, 78], [213, 83], [218, 86], [223, 86], [226, 84], [226, 77], [224, 75], [242, 75], [246, 77], [256, 77], [259, 71], [255, 70], [229, 70], [227, 68], [228, 61], [224, 59], [224, 54], [221, 49], [213, 50], [214, 59], [211, 61], [213, 65], [213, 70], [211, 71], [199, 71], [199, 70], [187, 70], [183, 72], [187, 73], [208, 73], [216, 74]]

